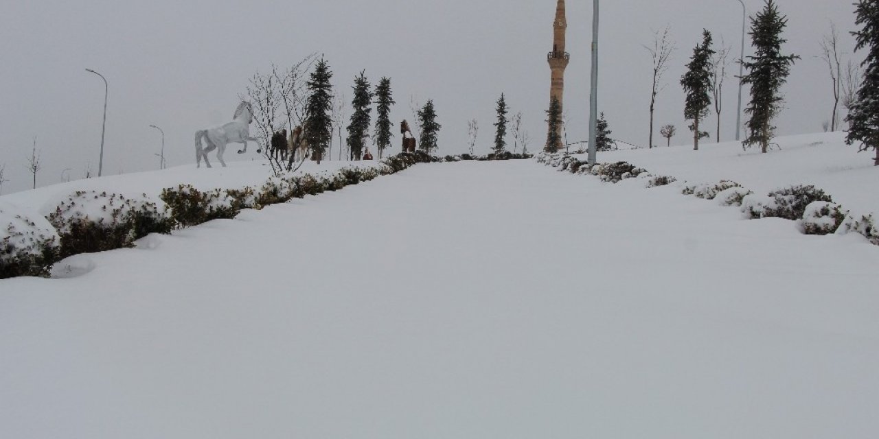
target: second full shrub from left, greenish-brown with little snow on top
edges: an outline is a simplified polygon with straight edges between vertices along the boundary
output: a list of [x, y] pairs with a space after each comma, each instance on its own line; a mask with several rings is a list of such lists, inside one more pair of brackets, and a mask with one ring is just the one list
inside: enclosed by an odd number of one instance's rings
[[165, 188], [161, 197], [176, 227], [190, 227], [212, 219], [232, 219], [241, 211], [241, 202], [229, 195], [229, 191], [202, 192], [189, 184]]

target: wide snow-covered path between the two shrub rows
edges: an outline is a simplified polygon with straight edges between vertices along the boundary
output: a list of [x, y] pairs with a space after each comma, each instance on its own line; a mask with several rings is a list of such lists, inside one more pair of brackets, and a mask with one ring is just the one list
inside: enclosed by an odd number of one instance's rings
[[879, 248], [854, 235], [523, 161], [151, 243], [0, 281], [0, 437], [879, 431]]

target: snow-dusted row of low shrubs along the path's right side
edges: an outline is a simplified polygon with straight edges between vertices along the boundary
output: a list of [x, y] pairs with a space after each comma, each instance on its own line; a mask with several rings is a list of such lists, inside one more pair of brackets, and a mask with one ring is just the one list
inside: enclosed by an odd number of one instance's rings
[[[607, 183], [619, 183], [628, 178], [643, 178], [645, 186], [656, 187], [672, 184], [672, 176], [653, 176], [645, 169], [628, 162], [596, 163], [590, 165], [571, 155], [537, 156], [537, 162], [578, 175], [598, 176]], [[830, 195], [815, 186], [790, 186], [772, 191], [766, 196], [754, 194], [741, 184], [722, 180], [711, 184], [684, 185], [684, 195], [716, 199], [720, 205], [740, 206], [749, 219], [783, 218], [797, 222], [804, 234], [861, 234], [879, 245], [879, 227], [872, 214], [858, 215], [833, 203]]]

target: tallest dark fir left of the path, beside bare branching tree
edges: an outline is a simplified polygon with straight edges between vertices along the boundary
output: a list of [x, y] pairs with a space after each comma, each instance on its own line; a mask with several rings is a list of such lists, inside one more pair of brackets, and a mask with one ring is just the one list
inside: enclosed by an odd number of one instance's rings
[[[315, 70], [311, 72], [309, 82], [309, 98], [305, 105], [305, 140], [311, 150], [311, 159], [320, 163], [330, 146], [332, 136], [332, 72], [330, 65], [323, 58], [317, 61]], [[293, 159], [287, 164], [289, 169]]]

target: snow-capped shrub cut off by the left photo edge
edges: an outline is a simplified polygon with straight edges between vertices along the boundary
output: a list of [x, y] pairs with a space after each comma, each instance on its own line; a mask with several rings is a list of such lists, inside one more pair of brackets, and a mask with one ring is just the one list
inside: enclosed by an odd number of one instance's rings
[[47, 277], [57, 260], [58, 234], [43, 217], [31, 219], [11, 205], [0, 205], [0, 279]]

